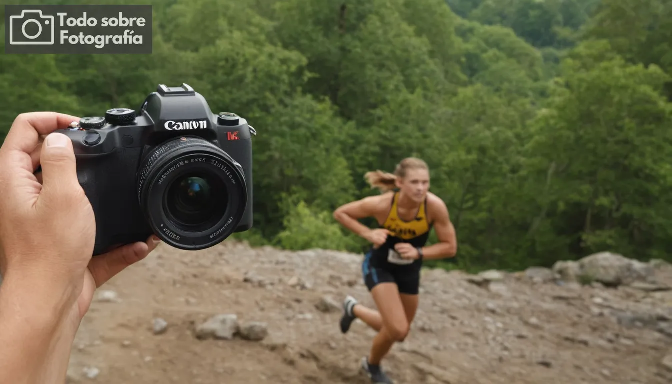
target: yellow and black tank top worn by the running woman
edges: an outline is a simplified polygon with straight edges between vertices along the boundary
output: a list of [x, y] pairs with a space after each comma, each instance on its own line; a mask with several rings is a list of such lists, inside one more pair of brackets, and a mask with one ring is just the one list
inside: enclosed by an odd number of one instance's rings
[[394, 192], [392, 196], [392, 206], [387, 219], [382, 224], [382, 227], [392, 233], [388, 236], [386, 245], [392, 247], [396, 243], [411, 243], [415, 247], [422, 247], [427, 243], [429, 238], [429, 231], [431, 231], [431, 224], [427, 219], [427, 199], [420, 204], [420, 208], [415, 214], [415, 218], [411, 221], [404, 221], [399, 217], [398, 213], [398, 192]]

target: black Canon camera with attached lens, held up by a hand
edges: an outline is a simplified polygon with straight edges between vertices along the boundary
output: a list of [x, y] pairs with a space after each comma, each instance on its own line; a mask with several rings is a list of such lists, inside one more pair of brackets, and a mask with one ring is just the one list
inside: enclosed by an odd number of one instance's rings
[[96, 221], [94, 256], [151, 234], [199, 250], [252, 227], [252, 136], [189, 85], [159, 85], [138, 112], [108, 110], [64, 131]]

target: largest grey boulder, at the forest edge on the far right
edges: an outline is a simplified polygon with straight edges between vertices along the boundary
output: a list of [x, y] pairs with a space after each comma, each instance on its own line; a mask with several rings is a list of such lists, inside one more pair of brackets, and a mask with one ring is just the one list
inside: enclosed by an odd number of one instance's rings
[[580, 278], [597, 281], [605, 286], [632, 284], [653, 278], [654, 270], [648, 264], [625, 258], [611, 252], [600, 252], [579, 260]]

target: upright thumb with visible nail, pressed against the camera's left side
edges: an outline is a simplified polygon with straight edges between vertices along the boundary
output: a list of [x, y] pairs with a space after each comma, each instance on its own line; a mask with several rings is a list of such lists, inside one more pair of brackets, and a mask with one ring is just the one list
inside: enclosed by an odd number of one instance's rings
[[40, 153], [40, 165], [42, 190], [46, 196], [69, 194], [73, 186], [79, 186], [73, 143], [62, 133], [46, 137]]

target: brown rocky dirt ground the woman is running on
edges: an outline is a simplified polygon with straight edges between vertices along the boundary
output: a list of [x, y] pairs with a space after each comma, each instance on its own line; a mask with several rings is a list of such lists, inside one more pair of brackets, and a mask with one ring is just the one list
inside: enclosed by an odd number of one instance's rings
[[[161, 245], [106, 285], [115, 297], [93, 303], [69, 383], [369, 383], [359, 364], [375, 333], [358, 321], [344, 336], [340, 311], [315, 306], [345, 295], [371, 305], [361, 261], [233, 241], [202, 252]], [[657, 280], [672, 286], [672, 268]], [[661, 361], [672, 352], [672, 291], [594, 285], [427, 271], [417, 321], [384, 369], [399, 384], [671, 383]], [[267, 323], [268, 336], [198, 340], [194, 329], [219, 314]]]

